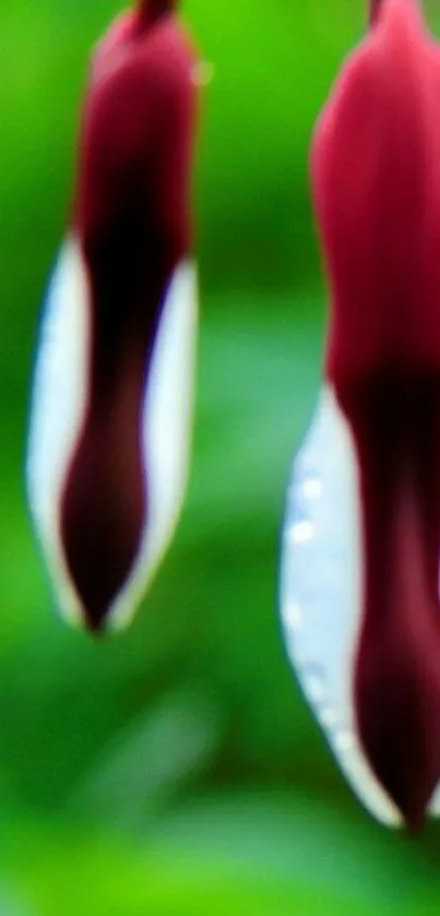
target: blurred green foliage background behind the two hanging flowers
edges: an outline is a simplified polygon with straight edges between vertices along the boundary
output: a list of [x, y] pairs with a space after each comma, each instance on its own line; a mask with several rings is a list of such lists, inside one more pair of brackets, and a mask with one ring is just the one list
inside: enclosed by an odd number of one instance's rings
[[0, 8], [0, 912], [437, 915], [439, 832], [408, 841], [358, 807], [277, 616], [284, 496], [325, 320], [308, 147], [362, 0], [185, 3], [216, 69], [195, 188], [189, 497], [131, 630], [94, 643], [52, 608], [23, 491], [29, 373], [91, 48], [118, 11]]

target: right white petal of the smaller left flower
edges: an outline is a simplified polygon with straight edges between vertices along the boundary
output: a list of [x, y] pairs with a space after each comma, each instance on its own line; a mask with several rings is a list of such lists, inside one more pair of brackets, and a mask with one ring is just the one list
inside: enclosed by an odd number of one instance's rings
[[147, 524], [132, 573], [110, 608], [111, 629], [130, 621], [179, 519], [191, 453], [197, 329], [197, 269], [185, 262], [167, 295], [145, 391]]

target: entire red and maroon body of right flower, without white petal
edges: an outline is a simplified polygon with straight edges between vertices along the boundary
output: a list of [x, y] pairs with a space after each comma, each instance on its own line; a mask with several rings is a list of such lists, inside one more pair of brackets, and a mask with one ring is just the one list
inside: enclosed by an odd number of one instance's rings
[[440, 51], [416, 0], [371, 8], [313, 156], [326, 369], [359, 459], [360, 737], [412, 826], [440, 780]]

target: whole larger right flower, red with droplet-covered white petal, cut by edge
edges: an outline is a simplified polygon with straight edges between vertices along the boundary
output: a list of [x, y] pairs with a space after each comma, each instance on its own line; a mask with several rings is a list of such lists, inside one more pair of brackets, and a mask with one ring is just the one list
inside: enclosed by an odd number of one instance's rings
[[354, 789], [417, 829], [440, 812], [440, 50], [416, 0], [374, 13], [313, 146], [330, 328], [282, 604]]

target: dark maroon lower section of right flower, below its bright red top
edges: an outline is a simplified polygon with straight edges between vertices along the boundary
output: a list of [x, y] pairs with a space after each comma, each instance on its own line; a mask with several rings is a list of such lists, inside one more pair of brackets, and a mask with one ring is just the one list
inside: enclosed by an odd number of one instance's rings
[[371, 766], [407, 823], [440, 780], [440, 373], [340, 391], [359, 457], [365, 610], [355, 702]]

